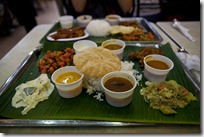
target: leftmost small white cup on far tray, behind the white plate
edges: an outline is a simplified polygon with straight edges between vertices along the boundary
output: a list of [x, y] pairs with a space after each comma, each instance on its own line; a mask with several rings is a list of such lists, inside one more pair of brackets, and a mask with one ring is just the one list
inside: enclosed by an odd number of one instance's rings
[[59, 22], [62, 28], [69, 29], [73, 27], [74, 17], [71, 15], [64, 15], [59, 17]]

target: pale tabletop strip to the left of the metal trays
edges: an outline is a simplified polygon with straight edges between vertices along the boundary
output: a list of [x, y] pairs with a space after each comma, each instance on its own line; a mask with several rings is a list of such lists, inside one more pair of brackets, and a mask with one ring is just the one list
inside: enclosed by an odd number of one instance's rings
[[15, 71], [29, 52], [40, 46], [40, 39], [51, 27], [52, 24], [36, 26], [0, 60], [0, 86]]

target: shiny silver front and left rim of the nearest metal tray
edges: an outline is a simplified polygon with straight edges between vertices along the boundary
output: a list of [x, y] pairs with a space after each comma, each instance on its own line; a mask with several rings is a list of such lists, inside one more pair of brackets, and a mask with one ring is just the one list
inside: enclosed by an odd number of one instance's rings
[[[16, 71], [8, 78], [8, 80], [0, 88], [0, 95], [2, 95], [18, 78], [24, 73], [30, 64], [33, 64], [38, 59], [42, 47], [39, 46], [29, 53]], [[197, 86], [195, 86], [196, 89]], [[200, 89], [196, 89], [198, 93]], [[134, 123], [134, 122], [107, 122], [99, 120], [31, 120], [31, 119], [6, 119], [0, 116], [0, 127], [127, 127], [127, 126], [153, 126], [153, 127], [169, 127], [169, 124], [154, 124], [154, 123]], [[180, 127], [179, 124], [171, 124], [173, 128]], [[185, 125], [184, 125], [185, 126]], [[190, 125], [189, 125], [190, 126]], [[192, 125], [195, 127], [195, 125]], [[199, 125], [196, 127], [199, 128]]]

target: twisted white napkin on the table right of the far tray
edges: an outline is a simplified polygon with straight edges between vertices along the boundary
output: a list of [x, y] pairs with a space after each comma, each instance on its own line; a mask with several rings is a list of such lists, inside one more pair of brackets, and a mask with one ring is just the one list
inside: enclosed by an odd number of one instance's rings
[[189, 33], [189, 29], [182, 26], [179, 21], [174, 19], [172, 26], [179, 30], [185, 37], [187, 37], [191, 41], [195, 41], [195, 38]]

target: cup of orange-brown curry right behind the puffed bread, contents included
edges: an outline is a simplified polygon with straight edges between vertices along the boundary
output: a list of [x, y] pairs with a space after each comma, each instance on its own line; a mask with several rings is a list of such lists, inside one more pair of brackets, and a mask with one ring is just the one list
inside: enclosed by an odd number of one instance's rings
[[111, 50], [113, 53], [115, 53], [120, 60], [123, 58], [123, 52], [125, 49], [125, 42], [120, 39], [109, 39], [104, 41], [101, 46], [103, 48]]

